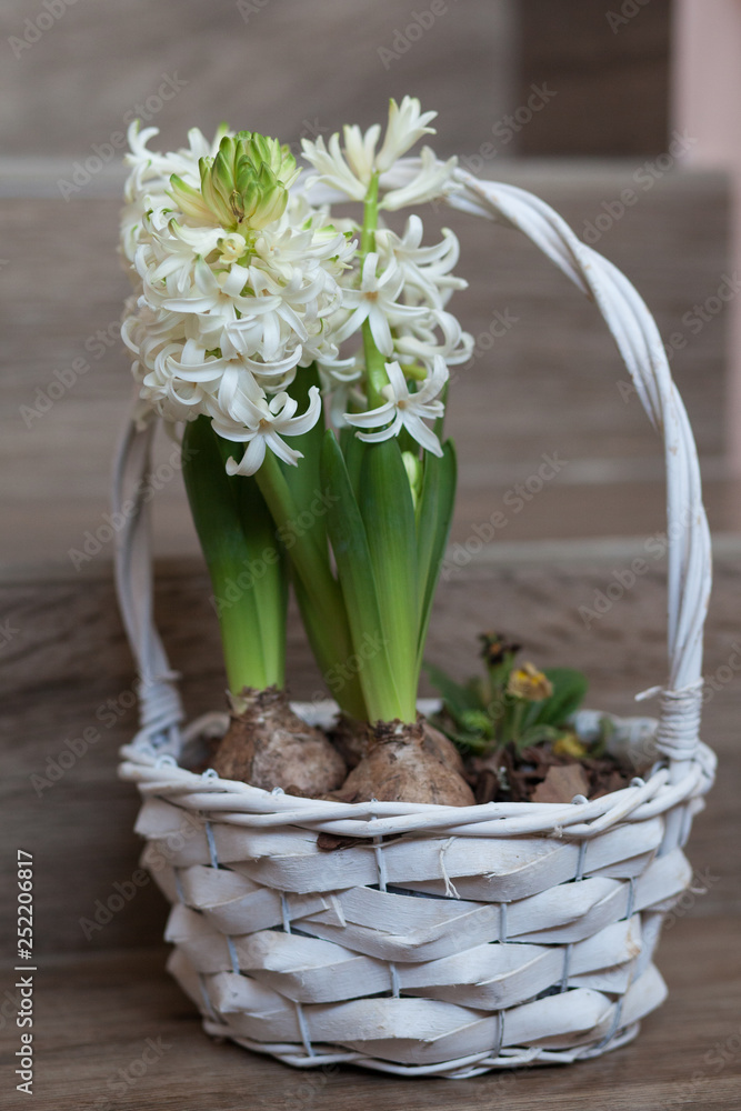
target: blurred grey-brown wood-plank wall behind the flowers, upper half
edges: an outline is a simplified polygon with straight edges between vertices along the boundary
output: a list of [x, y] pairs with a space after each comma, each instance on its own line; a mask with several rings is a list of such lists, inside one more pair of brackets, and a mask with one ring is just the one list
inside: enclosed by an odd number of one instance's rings
[[[405, 92], [439, 111], [441, 156], [532, 189], [635, 281], [670, 342], [711, 518], [732, 523], [725, 303], [714, 311], [728, 187], [712, 167], [679, 169], [698, 140], [670, 119], [670, 0], [6, 0], [1, 20], [6, 562], [69, 568], [107, 509], [130, 394], [117, 338], [126, 123], [140, 116], [160, 129], [154, 146], [171, 148], [189, 127], [226, 119], [298, 150], [303, 134], [383, 119]], [[431, 234], [444, 219], [430, 214]], [[592, 307], [513, 233], [450, 219], [471, 281], [457, 311], [477, 338], [450, 407], [455, 534], [554, 451], [569, 466], [498, 539], [660, 528], [660, 444]], [[171, 452], [163, 442], [162, 458]], [[160, 552], [196, 550], [179, 474], [156, 518]]]

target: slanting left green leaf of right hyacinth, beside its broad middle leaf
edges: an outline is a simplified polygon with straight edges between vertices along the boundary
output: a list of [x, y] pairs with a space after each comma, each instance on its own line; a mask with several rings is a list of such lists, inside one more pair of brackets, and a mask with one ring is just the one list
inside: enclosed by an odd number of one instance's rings
[[[331, 493], [327, 529], [334, 553], [356, 653], [362, 659], [360, 683], [369, 720], [403, 718], [389, 661], [388, 645], [378, 604], [378, 592], [368, 537], [348, 469], [334, 434], [328, 430], [321, 453], [322, 486]], [[371, 652], [363, 649], [373, 645]], [[347, 660], [343, 661], [347, 664]], [[413, 720], [413, 717], [412, 719]]]

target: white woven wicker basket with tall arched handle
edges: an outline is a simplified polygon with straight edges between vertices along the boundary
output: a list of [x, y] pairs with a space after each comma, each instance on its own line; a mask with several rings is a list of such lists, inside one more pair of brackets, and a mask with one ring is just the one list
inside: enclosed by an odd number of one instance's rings
[[[182, 745], [226, 718], [180, 729], [177, 677], [152, 624], [141, 481], [152, 428], [131, 426], [114, 483], [114, 508], [129, 501], [117, 587], [142, 721], [120, 771], [143, 795], [144, 863], [173, 903], [169, 968], [209, 1033], [293, 1065], [463, 1078], [630, 1040], [665, 994], [653, 950], [690, 882], [682, 847], [714, 772], [698, 735], [710, 542], [655, 324], [630, 282], [531, 194], [459, 171], [448, 201], [519, 228], [595, 301], [664, 437], [669, 678], [648, 725], [655, 763], [593, 802], [462, 809], [318, 802], [179, 767]], [[617, 741], [644, 745], [647, 721], [618, 722]]]

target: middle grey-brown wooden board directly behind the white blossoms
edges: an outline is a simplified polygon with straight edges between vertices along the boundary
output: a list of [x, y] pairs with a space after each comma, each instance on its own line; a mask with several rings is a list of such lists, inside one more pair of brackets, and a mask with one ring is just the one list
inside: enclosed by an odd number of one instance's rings
[[[543, 164], [500, 176], [543, 196], [582, 232], [603, 200], [635, 184], [634, 172]], [[71, 565], [69, 549], [104, 521], [112, 446], [131, 391], [129, 358], [116, 338], [128, 292], [116, 259], [118, 208], [113, 198], [0, 199], [9, 259], [0, 269], [6, 563]], [[740, 519], [722, 471], [724, 318], [721, 311], [699, 331], [682, 318], [715, 296], [727, 272], [727, 212], [721, 176], [668, 174], [598, 244], [635, 282], [664, 338], [684, 338], [672, 369], [703, 459], [711, 523], [721, 530]], [[527, 512], [507, 514], [501, 539], [634, 536], [660, 527], [661, 444], [625, 392], [627, 373], [594, 307], [523, 237], [460, 213], [431, 213], [435, 219], [460, 236], [458, 271], [470, 289], [458, 296], [457, 311], [478, 342], [449, 406], [460, 457], [457, 538], [502, 509], [507, 491], [554, 452], [569, 466]], [[40, 273], [42, 289], [34, 284]], [[501, 331], [495, 313], [513, 323], [493, 337], [492, 326]], [[49, 404], [54, 372], [79, 358], [89, 370]], [[163, 437], [160, 460], [171, 454]], [[156, 540], [163, 556], [197, 552], [179, 474], [157, 496]]]

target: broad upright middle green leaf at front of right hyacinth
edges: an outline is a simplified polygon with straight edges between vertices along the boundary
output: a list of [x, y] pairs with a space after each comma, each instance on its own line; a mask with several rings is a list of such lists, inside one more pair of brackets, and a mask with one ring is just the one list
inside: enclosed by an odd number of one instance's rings
[[368, 446], [358, 501], [394, 683], [407, 720], [413, 721], [419, 620], [417, 527], [407, 468], [395, 440]]

